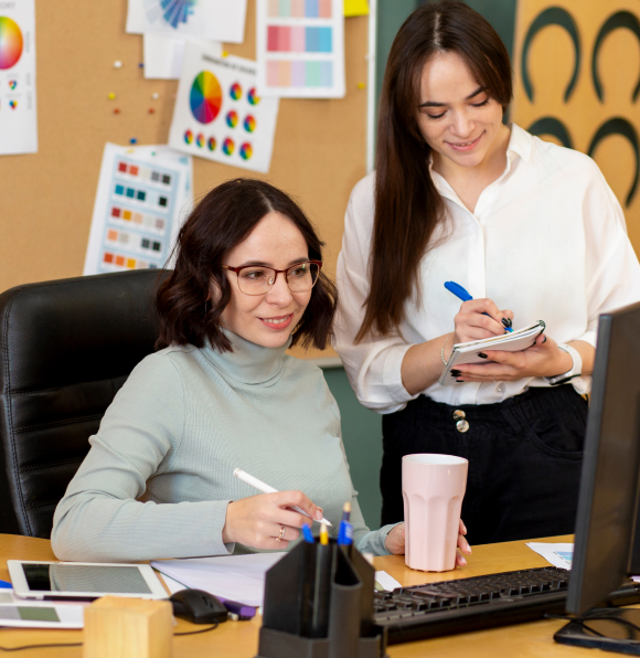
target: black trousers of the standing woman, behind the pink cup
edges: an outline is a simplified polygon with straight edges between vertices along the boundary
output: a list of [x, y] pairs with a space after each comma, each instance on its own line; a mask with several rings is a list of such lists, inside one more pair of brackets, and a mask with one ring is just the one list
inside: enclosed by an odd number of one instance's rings
[[469, 460], [462, 520], [471, 544], [574, 532], [586, 420], [587, 402], [567, 384], [483, 405], [420, 395], [383, 416], [382, 523], [404, 519], [403, 455], [439, 453]]

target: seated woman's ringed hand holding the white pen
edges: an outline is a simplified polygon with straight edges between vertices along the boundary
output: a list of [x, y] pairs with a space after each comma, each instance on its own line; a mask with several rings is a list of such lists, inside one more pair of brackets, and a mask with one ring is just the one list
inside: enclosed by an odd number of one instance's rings
[[[298, 528], [305, 523], [311, 524], [309, 517], [289, 509], [294, 506], [303, 509], [311, 519], [322, 519], [322, 509], [302, 491], [260, 494], [227, 505], [222, 540], [224, 543], [238, 542], [253, 549], [284, 551], [290, 541], [298, 539]], [[281, 535], [282, 526], [285, 532]]]

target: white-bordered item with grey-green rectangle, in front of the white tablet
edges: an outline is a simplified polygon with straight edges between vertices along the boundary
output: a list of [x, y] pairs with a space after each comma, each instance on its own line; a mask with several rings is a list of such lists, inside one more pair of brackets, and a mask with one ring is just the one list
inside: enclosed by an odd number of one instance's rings
[[85, 605], [18, 598], [13, 590], [0, 591], [0, 626], [19, 628], [83, 628]]

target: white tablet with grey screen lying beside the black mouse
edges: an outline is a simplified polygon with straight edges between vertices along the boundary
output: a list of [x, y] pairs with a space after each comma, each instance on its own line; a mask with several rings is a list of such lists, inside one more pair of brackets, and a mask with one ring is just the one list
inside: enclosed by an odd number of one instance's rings
[[148, 564], [90, 564], [7, 560], [13, 592], [21, 598], [93, 601], [100, 596], [168, 598]]

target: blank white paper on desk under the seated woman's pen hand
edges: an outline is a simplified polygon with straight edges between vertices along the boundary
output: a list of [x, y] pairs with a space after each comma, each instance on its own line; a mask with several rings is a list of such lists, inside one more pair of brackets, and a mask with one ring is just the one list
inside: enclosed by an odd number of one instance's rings
[[161, 574], [194, 590], [259, 607], [265, 597], [267, 571], [286, 553], [255, 553], [193, 560], [154, 560]]

